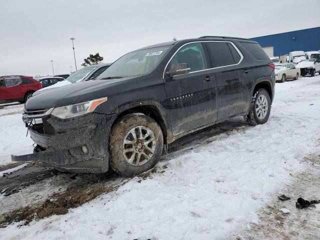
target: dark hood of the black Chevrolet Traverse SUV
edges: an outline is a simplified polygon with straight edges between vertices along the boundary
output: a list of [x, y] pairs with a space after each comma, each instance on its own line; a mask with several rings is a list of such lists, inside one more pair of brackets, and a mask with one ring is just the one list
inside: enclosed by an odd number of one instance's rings
[[108, 96], [108, 94], [112, 92], [110, 89], [112, 86], [137, 78], [141, 77], [89, 80], [50, 88], [32, 95], [32, 97], [26, 101], [25, 109], [46, 109]]

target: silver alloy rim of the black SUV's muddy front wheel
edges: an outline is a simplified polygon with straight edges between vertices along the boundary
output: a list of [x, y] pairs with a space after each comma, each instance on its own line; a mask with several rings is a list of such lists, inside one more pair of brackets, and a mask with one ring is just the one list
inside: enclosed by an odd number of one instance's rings
[[155, 150], [153, 131], [146, 126], [135, 126], [130, 129], [122, 144], [124, 159], [133, 166], [148, 162]]

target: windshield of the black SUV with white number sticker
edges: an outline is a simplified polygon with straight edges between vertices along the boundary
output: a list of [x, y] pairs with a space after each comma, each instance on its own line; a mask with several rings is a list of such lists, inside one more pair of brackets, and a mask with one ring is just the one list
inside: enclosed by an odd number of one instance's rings
[[152, 71], [171, 46], [161, 46], [129, 52], [112, 63], [98, 79], [140, 76]]

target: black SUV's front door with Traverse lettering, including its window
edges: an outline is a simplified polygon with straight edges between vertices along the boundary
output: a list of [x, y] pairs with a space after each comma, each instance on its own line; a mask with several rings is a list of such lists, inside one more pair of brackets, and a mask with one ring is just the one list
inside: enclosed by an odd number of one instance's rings
[[215, 76], [207, 69], [211, 63], [207, 61], [202, 43], [182, 46], [165, 71], [177, 63], [187, 63], [190, 72], [164, 77], [173, 135], [215, 122], [217, 118]]

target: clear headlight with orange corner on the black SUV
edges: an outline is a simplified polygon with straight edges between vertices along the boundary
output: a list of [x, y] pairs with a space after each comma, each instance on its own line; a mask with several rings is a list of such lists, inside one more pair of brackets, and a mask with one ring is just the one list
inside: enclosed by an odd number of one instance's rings
[[105, 102], [106, 100], [107, 97], [103, 97], [91, 101], [76, 103], [73, 105], [55, 107], [52, 110], [51, 115], [62, 119], [83, 115], [85, 113], [93, 111], [99, 104]]

